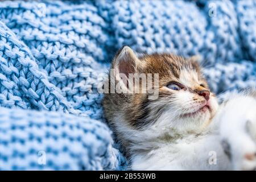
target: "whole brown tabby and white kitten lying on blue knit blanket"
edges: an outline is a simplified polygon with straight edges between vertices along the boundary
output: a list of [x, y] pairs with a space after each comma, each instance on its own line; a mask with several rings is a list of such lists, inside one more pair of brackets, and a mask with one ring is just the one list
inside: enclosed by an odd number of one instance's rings
[[[130, 73], [158, 79], [141, 88], [143, 81], [135, 84]], [[116, 92], [105, 93], [105, 115], [131, 169], [255, 168], [255, 96], [240, 93], [218, 106], [196, 60], [167, 53], [138, 57], [125, 46], [114, 57], [108, 85]], [[152, 90], [158, 97], [150, 99]]]

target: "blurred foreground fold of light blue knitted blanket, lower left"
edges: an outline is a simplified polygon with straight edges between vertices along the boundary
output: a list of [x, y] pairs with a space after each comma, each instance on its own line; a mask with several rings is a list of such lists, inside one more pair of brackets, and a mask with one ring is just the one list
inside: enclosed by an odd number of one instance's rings
[[90, 118], [1, 107], [0, 138], [1, 170], [121, 169], [110, 130]]

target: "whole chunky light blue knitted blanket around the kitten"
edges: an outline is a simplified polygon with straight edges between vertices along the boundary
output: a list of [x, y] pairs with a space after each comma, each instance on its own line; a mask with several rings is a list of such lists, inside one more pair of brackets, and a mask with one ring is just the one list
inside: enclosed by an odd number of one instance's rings
[[123, 45], [201, 55], [213, 92], [256, 88], [256, 1], [0, 2], [0, 169], [126, 169], [97, 92]]

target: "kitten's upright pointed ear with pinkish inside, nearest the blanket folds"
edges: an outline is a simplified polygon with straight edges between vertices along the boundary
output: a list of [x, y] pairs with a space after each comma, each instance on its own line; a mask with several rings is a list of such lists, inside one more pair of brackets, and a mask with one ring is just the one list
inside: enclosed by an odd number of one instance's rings
[[129, 73], [137, 73], [138, 69], [142, 67], [142, 61], [139, 60], [133, 50], [128, 46], [124, 46], [119, 49], [112, 63], [113, 76], [115, 80], [122, 80], [123, 83], [120, 85], [123, 87], [122, 89], [127, 89], [129, 86]]

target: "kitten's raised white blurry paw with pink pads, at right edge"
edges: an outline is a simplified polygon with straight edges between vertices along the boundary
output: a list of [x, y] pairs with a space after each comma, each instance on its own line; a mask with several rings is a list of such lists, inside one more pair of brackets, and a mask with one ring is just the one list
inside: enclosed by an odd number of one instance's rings
[[234, 99], [224, 109], [222, 147], [234, 170], [256, 169], [256, 102]]

